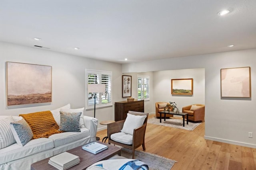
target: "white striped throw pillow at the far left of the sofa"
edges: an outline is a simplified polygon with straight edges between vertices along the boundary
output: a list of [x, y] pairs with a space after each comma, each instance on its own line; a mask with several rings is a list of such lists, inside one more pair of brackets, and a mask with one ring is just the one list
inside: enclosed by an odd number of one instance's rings
[[15, 139], [10, 128], [10, 123], [13, 121], [12, 116], [8, 116], [0, 120], [0, 149], [15, 143]]

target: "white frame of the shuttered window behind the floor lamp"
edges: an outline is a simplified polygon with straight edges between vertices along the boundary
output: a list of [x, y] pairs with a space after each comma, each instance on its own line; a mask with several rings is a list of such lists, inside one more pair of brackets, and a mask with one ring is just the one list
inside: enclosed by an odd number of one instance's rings
[[104, 70], [92, 70], [92, 69], [86, 69], [85, 70], [85, 94], [86, 94], [86, 98], [85, 98], [85, 108], [86, 110], [88, 109], [94, 109], [94, 103], [93, 104], [89, 104], [89, 99], [88, 99], [88, 74], [97, 74], [99, 75], [99, 80], [98, 83], [102, 83], [102, 75], [109, 75], [110, 76], [110, 85], [106, 86], [106, 88], [110, 89], [110, 102], [108, 103], [102, 103], [102, 93], [96, 94], [99, 97], [99, 103], [95, 104], [96, 108], [100, 108], [100, 107], [110, 107], [113, 106], [113, 102], [112, 102], [112, 71], [104, 71]]

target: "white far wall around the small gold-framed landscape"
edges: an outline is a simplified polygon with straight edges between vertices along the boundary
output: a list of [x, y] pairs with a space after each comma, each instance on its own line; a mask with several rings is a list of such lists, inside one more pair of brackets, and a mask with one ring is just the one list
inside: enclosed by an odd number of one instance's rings
[[[172, 95], [171, 79], [193, 78], [193, 95]], [[154, 71], [154, 103], [175, 102], [180, 111], [190, 104], [204, 104], [204, 68]]]

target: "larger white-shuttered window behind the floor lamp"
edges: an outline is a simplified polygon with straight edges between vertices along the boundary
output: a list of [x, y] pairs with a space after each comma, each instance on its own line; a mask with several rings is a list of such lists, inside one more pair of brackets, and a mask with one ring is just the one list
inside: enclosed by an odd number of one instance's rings
[[[88, 84], [106, 84], [104, 93], [88, 93]], [[86, 109], [94, 107], [112, 106], [112, 72], [86, 69]]]

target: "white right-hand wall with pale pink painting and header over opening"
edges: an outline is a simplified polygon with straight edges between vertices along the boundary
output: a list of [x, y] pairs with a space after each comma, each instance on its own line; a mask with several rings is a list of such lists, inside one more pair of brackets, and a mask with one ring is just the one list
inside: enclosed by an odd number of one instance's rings
[[[122, 65], [122, 72], [205, 68], [205, 139], [256, 148], [256, 49]], [[220, 69], [251, 67], [252, 97], [220, 98]]]

